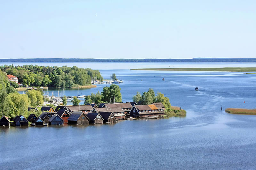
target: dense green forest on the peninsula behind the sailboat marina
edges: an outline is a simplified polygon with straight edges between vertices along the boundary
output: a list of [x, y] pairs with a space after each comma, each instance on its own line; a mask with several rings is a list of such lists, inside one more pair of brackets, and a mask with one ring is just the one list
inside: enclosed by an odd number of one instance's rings
[[73, 87], [91, 84], [93, 80], [103, 80], [99, 70], [68, 66], [4, 65], [0, 69], [12, 74], [26, 86]]

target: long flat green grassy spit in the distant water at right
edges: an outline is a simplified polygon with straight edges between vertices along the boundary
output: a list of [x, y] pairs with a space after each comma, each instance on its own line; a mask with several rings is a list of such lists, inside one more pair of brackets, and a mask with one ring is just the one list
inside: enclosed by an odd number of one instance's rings
[[249, 72], [256, 71], [256, 67], [221, 67], [221, 68], [146, 68], [131, 70], [156, 70], [156, 71], [230, 71], [230, 72]]

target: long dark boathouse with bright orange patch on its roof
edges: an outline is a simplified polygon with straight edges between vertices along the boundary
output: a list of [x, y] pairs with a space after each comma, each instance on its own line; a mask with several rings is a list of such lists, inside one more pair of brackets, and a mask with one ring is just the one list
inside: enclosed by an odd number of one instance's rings
[[132, 107], [129, 115], [133, 117], [164, 115], [164, 109], [160, 105], [138, 105]]

